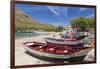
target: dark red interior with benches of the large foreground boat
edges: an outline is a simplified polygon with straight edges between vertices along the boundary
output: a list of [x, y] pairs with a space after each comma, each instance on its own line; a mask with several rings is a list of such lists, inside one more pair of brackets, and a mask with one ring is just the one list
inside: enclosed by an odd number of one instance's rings
[[25, 46], [29, 47], [32, 50], [46, 52], [51, 54], [60, 54], [67, 55], [78, 52], [80, 50], [89, 48], [89, 47], [81, 47], [81, 46], [61, 46], [56, 44], [48, 44], [48, 43], [40, 43], [40, 42], [26, 42]]

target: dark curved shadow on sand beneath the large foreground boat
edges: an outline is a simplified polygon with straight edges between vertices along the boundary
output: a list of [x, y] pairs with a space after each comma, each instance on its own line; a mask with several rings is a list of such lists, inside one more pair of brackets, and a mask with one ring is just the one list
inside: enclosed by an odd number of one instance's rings
[[35, 57], [39, 60], [43, 60], [46, 62], [51, 62], [51, 63], [72, 63], [72, 62], [82, 62], [85, 56], [80, 56], [80, 57], [74, 57], [74, 58], [70, 58], [70, 59], [53, 59], [53, 58], [47, 58], [47, 57], [39, 57], [36, 56], [28, 51], [25, 51], [26, 54]]

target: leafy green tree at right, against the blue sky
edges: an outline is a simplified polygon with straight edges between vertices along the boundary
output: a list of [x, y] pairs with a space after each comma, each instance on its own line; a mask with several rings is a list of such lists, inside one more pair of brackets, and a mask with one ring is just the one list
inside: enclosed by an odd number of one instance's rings
[[77, 28], [78, 31], [86, 31], [88, 28], [94, 27], [93, 18], [80, 17], [70, 21], [72, 28]]

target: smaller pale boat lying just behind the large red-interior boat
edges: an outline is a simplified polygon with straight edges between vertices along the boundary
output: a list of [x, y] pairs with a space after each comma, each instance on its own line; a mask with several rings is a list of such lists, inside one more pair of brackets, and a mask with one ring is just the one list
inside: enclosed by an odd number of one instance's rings
[[70, 38], [44, 38], [44, 40], [48, 44], [58, 44], [58, 45], [70, 45], [70, 46], [83, 46], [84, 41], [83, 40], [77, 40], [77, 39], [70, 39]]

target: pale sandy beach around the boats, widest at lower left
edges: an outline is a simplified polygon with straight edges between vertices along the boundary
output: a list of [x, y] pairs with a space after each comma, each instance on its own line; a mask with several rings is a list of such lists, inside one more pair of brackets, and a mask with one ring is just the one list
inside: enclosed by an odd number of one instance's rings
[[[53, 33], [57, 37], [59, 33]], [[26, 37], [26, 38], [20, 38], [15, 40], [15, 65], [36, 65], [36, 64], [54, 64], [56, 62], [64, 62], [68, 63], [67, 60], [62, 60], [62, 61], [53, 61], [53, 60], [46, 60], [45, 58], [38, 58], [31, 53], [27, 52], [23, 48], [23, 43], [24, 42], [32, 42], [32, 41], [38, 41], [38, 42], [44, 42], [45, 37], [54, 37], [53, 34], [48, 34], [48, 35], [41, 35], [41, 36], [33, 36], [33, 37]], [[94, 53], [91, 52], [92, 54]], [[87, 57], [85, 60], [89, 59]]]

